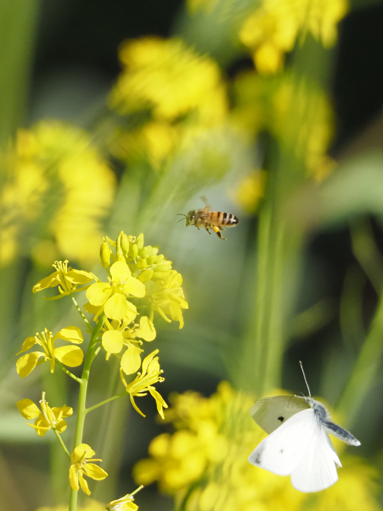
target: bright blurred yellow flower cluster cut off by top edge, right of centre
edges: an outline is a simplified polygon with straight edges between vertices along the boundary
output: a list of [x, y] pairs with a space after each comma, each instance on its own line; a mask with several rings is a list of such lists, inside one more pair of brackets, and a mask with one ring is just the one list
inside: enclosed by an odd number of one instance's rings
[[276, 73], [299, 35], [310, 33], [324, 47], [332, 46], [347, 11], [347, 0], [262, 0], [245, 20], [240, 39], [252, 50], [259, 73]]

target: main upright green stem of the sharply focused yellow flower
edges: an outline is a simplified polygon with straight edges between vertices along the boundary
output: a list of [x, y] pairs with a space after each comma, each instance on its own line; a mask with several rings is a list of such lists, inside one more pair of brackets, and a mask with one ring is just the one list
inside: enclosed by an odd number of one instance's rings
[[[95, 326], [94, 330], [92, 331], [92, 335], [90, 336], [88, 351], [86, 352], [84, 368], [82, 371], [81, 383], [80, 383], [75, 442], [74, 442], [73, 449], [75, 449], [78, 445], [80, 445], [82, 443], [82, 435], [83, 435], [83, 431], [84, 431], [84, 422], [85, 422], [85, 415], [86, 415], [85, 403], [86, 403], [86, 391], [88, 388], [89, 371], [90, 371], [90, 366], [91, 366], [93, 358], [94, 358], [93, 357], [94, 351], [96, 349], [97, 342], [98, 342], [97, 338], [99, 336], [101, 327], [104, 324], [104, 320], [105, 320], [105, 314], [103, 314], [100, 317], [97, 325]], [[73, 490], [73, 488], [71, 488], [70, 495], [69, 495], [69, 509], [68, 509], [68, 511], [76, 511], [76, 507], [77, 507], [77, 491]]]

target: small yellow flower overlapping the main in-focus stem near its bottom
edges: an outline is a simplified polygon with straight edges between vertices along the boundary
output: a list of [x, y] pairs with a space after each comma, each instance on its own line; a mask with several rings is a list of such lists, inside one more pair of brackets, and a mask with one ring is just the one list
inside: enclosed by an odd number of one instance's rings
[[79, 491], [81, 486], [81, 490], [86, 493], [86, 495], [90, 495], [88, 483], [84, 479], [84, 475], [96, 481], [101, 481], [108, 475], [105, 470], [98, 465], [90, 463], [90, 461], [101, 461], [101, 459], [92, 458], [94, 454], [95, 452], [87, 444], [80, 444], [70, 455], [69, 482], [71, 488], [76, 490], [76, 492]]

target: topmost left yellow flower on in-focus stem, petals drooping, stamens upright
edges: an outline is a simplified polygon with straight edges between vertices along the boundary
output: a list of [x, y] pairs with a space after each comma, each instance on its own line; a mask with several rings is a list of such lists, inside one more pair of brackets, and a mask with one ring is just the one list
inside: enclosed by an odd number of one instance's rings
[[50, 299], [62, 298], [70, 293], [88, 289], [88, 286], [83, 286], [80, 289], [77, 289], [77, 286], [87, 284], [94, 278], [94, 275], [88, 271], [72, 269], [70, 266], [68, 268], [67, 260], [55, 261], [52, 266], [56, 268], [56, 271], [33, 286], [34, 293], [58, 286], [60, 294]]

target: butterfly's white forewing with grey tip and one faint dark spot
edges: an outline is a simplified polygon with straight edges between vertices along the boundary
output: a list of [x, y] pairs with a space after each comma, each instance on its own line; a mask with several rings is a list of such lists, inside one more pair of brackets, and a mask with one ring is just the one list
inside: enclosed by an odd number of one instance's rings
[[312, 408], [295, 413], [258, 444], [249, 456], [250, 463], [280, 476], [292, 474], [316, 428], [319, 429]]

